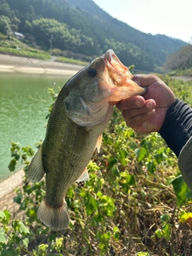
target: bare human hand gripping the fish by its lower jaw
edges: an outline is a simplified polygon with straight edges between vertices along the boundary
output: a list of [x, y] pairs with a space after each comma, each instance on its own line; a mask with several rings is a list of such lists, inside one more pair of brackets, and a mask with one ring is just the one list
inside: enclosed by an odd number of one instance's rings
[[126, 125], [145, 134], [160, 130], [166, 111], [175, 100], [174, 93], [154, 74], [134, 75], [132, 79], [147, 90], [143, 96], [118, 102], [117, 107], [122, 110]]

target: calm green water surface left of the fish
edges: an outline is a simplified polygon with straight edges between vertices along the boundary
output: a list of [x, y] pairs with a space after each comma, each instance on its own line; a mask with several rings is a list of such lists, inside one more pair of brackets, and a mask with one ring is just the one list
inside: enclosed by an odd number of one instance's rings
[[[49, 74], [0, 73], [0, 181], [11, 174], [10, 142], [32, 146], [45, 136], [52, 102], [47, 89], [58, 92], [70, 77]], [[21, 168], [21, 165], [17, 169]]]

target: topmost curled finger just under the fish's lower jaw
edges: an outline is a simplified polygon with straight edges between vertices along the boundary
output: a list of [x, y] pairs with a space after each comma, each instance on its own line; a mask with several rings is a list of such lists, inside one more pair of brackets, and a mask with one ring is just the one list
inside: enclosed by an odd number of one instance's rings
[[128, 99], [123, 99], [117, 104], [119, 110], [131, 110], [141, 108], [145, 105], [145, 99], [142, 96], [133, 96]]

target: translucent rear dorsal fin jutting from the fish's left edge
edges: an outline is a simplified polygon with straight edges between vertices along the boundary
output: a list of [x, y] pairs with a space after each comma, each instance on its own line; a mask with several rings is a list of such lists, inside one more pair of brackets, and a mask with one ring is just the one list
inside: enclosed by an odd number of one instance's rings
[[26, 172], [26, 178], [31, 182], [39, 182], [45, 174], [45, 170], [42, 166], [42, 146], [38, 152], [34, 155], [34, 158], [30, 162], [30, 166]]

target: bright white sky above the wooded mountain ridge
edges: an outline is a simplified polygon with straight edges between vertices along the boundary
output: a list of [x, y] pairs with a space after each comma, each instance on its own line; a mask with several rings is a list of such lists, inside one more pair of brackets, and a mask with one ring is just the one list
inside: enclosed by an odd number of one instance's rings
[[192, 0], [93, 0], [114, 18], [145, 33], [192, 41]]

